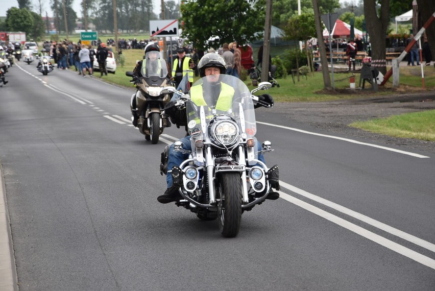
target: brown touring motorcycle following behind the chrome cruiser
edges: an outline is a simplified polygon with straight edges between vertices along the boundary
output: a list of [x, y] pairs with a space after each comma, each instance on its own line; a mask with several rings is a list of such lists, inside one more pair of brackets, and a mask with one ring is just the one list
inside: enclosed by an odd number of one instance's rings
[[160, 58], [152, 60], [146, 55], [142, 61], [141, 76], [131, 71], [127, 71], [126, 76], [133, 78], [130, 82], [137, 88], [130, 101], [130, 109], [138, 117], [137, 127], [140, 133], [145, 135], [146, 140], [151, 140], [151, 143], [155, 144], [159, 141], [163, 129], [171, 126], [163, 113], [165, 104], [172, 96], [170, 92], [162, 93], [163, 88], [170, 86], [171, 81], [167, 77], [166, 62]]

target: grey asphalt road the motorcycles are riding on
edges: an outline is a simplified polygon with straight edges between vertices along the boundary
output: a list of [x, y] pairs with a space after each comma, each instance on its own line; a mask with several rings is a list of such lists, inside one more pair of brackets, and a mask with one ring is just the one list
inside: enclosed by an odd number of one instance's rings
[[435, 289], [433, 153], [262, 110], [281, 198], [223, 238], [215, 221], [157, 202], [160, 153], [182, 129], [151, 144], [128, 122], [134, 91], [35, 66], [12, 67], [0, 88], [20, 290]]

